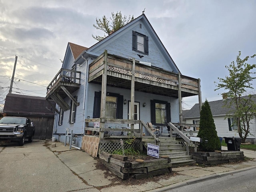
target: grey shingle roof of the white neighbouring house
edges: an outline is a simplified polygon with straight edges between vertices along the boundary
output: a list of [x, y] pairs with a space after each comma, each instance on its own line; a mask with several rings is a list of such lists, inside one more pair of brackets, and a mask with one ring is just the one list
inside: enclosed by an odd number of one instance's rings
[[[244, 96], [246, 98], [248, 96]], [[256, 102], [256, 95], [252, 95], [252, 99]], [[227, 102], [230, 102], [231, 99], [227, 99]], [[224, 100], [217, 100], [208, 102], [212, 111], [212, 116], [221, 116], [226, 115], [230, 110], [234, 110], [234, 106], [231, 108], [224, 107]], [[199, 118], [199, 104], [195, 104], [190, 110], [183, 110], [183, 118]]]

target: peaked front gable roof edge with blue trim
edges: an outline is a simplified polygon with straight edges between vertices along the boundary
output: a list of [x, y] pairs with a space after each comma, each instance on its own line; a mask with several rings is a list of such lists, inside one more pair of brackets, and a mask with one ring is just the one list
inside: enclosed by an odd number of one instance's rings
[[166, 60], [169, 61], [168, 64], [170, 64], [170, 65], [172, 64], [172, 67], [176, 70], [176, 72], [180, 73], [178, 67], [172, 60], [170, 54], [168, 53], [168, 51], [166, 50], [164, 45], [162, 44], [161, 40], [159, 39], [158, 35], [156, 34], [155, 30], [153, 29], [152, 25], [148, 21], [148, 18], [146, 17], [145, 14], [142, 14], [139, 17], [135, 18], [134, 20], [130, 21], [128, 24], [124, 25], [122, 28], [120, 28], [117, 31], [113, 32], [112, 34], [106, 36], [106, 38], [102, 39], [101, 41], [97, 42], [96, 44], [94, 44], [93, 46], [88, 48], [88, 50], [85, 50], [84, 52], [82, 52], [82, 54], [80, 54], [80, 56], [78, 56], [78, 58], [76, 58], [74, 62], [76, 62], [76, 63], [84, 62], [84, 60], [82, 59], [82, 55], [84, 55], [86, 53], [90, 54], [90, 55], [94, 55], [96, 57], [99, 56], [100, 54], [97, 55], [94, 53], [96, 49], [98, 49], [101, 46], [103, 46], [104, 44], [106, 44], [110, 40], [110, 38], [114, 38], [115, 36], [118, 37], [122, 32], [127, 30], [129, 27], [131, 27], [134, 23], [138, 22], [139, 20], [141, 20], [144, 24], [146, 24], [145, 26], [148, 29], [150, 36], [152, 37], [152, 39], [155, 42], [158, 43], [160, 52], [162, 52], [163, 56], [166, 58]]

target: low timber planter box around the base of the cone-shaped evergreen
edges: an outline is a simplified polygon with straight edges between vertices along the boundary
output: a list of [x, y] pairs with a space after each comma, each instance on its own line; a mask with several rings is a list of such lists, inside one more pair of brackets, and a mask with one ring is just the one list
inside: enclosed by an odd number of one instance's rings
[[214, 165], [244, 160], [242, 151], [190, 152], [199, 164]]

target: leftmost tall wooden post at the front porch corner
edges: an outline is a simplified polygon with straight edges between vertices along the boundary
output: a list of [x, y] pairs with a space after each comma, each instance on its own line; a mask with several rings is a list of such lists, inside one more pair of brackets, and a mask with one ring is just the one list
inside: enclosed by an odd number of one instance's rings
[[104, 73], [101, 82], [101, 102], [100, 102], [100, 140], [104, 138], [105, 112], [106, 112], [106, 92], [107, 92], [107, 70], [108, 70], [108, 51], [104, 51]]

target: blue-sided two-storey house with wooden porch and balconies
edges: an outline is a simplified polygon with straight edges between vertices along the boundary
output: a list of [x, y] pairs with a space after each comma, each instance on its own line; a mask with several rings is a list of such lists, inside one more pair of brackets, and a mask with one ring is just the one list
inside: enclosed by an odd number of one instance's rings
[[200, 79], [181, 74], [142, 14], [90, 48], [68, 43], [46, 100], [56, 102], [53, 136], [60, 142], [97, 156], [119, 150], [122, 139], [124, 148], [152, 143], [167, 155], [161, 140], [171, 142], [182, 98], [195, 95], [202, 103]]

